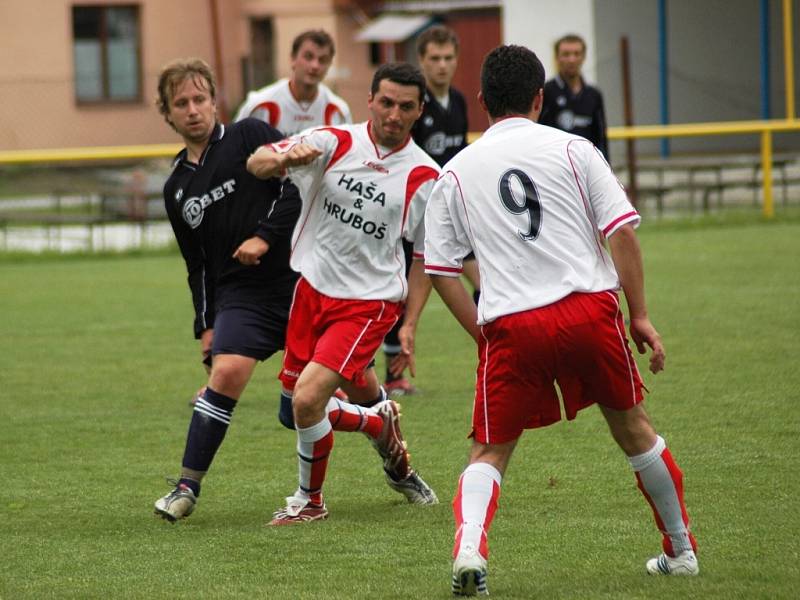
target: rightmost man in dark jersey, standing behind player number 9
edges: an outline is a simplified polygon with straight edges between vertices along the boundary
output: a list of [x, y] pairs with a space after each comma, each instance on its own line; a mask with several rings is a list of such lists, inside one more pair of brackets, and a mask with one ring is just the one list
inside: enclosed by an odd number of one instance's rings
[[586, 42], [571, 33], [559, 38], [554, 50], [558, 75], [544, 86], [539, 123], [585, 137], [609, 161], [603, 95], [587, 84], [581, 74]]

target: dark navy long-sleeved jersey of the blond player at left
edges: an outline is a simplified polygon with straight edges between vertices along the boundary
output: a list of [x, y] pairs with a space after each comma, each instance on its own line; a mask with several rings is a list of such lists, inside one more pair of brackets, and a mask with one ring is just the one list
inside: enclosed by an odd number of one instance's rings
[[[189, 272], [195, 337], [214, 326], [223, 307], [291, 304], [297, 274], [289, 268], [289, 249], [300, 196], [291, 183], [258, 179], [246, 168], [258, 147], [282, 137], [256, 119], [218, 123], [199, 164], [187, 159], [186, 149], [175, 157], [164, 203]], [[269, 251], [261, 264], [242, 265], [233, 253], [254, 235], [269, 242]]]

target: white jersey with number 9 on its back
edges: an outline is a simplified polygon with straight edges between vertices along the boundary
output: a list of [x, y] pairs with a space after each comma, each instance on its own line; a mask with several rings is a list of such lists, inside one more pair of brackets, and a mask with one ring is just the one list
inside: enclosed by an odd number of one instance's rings
[[479, 324], [619, 287], [604, 241], [640, 217], [591, 142], [508, 118], [442, 170], [425, 216], [425, 272], [456, 277], [474, 251]]

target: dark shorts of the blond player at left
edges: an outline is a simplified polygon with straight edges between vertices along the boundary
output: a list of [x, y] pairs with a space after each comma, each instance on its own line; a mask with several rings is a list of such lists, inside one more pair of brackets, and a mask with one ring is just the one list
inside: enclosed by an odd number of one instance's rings
[[214, 319], [211, 354], [238, 354], [266, 360], [286, 343], [289, 307], [229, 306]]

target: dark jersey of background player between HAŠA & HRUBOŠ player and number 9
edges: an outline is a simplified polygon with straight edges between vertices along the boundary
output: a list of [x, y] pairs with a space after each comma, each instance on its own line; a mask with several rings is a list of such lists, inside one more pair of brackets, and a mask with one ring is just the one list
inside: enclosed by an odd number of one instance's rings
[[467, 145], [467, 103], [458, 90], [450, 88], [449, 94], [445, 109], [431, 91], [426, 90], [422, 116], [411, 129], [417, 146], [440, 167]]

